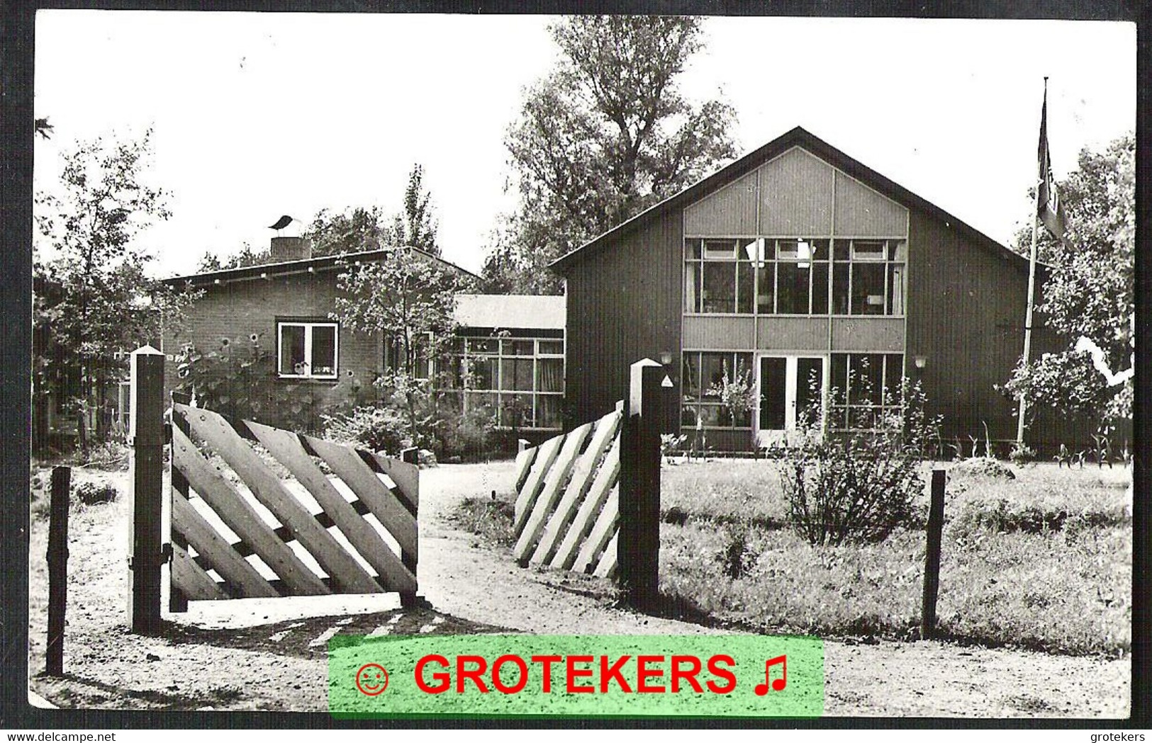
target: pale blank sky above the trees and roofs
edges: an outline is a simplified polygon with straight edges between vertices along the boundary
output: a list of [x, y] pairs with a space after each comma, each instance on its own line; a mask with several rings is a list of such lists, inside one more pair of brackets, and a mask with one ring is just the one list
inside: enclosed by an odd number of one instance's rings
[[[263, 248], [282, 214], [401, 208], [424, 167], [444, 256], [479, 271], [516, 196], [505, 135], [552, 69], [555, 17], [40, 10], [35, 185], [77, 140], [153, 131], [157, 276]], [[1136, 127], [1136, 26], [710, 17], [680, 78], [750, 152], [796, 125], [1007, 243], [1026, 222], [1044, 76], [1058, 178]], [[291, 229], [291, 228], [289, 228]], [[289, 233], [286, 231], [285, 233]]]

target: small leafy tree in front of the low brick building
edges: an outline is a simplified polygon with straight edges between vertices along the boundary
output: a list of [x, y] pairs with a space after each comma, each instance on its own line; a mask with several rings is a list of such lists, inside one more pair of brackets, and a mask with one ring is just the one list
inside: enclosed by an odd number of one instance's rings
[[397, 247], [384, 260], [348, 267], [336, 286], [332, 316], [384, 337], [396, 363], [377, 384], [402, 408], [412, 442], [426, 439], [427, 404], [434, 403], [427, 363], [447, 354], [462, 282], [434, 259]]

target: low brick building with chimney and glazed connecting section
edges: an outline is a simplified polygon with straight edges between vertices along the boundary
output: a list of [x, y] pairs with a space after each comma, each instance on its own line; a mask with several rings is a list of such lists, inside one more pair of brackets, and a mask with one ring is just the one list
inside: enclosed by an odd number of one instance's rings
[[[188, 311], [184, 327], [166, 334], [166, 386], [170, 390], [180, 382], [176, 357], [189, 344], [203, 352], [221, 347], [247, 352], [258, 345], [271, 357], [271, 368], [262, 369], [260, 378], [266, 388], [275, 388], [266, 390], [274, 404], [290, 405], [293, 395], [313, 405], [319, 400], [320, 409], [349, 397], [371, 399], [372, 382], [396, 363], [392, 344], [380, 335], [355, 332], [328, 313], [335, 309], [341, 271], [388, 260], [394, 250], [313, 258], [305, 239], [274, 237], [268, 263], [166, 279], [204, 292]], [[438, 256], [403, 250], [420, 253], [461, 278], [478, 279]], [[463, 411], [491, 406], [502, 427], [559, 430], [563, 297], [458, 294], [455, 319], [456, 353], [446, 375], [453, 382], [442, 392], [458, 393]], [[432, 378], [432, 362], [425, 368]], [[279, 423], [276, 413], [268, 409], [265, 422]], [[312, 419], [311, 426], [319, 427], [317, 416]]]

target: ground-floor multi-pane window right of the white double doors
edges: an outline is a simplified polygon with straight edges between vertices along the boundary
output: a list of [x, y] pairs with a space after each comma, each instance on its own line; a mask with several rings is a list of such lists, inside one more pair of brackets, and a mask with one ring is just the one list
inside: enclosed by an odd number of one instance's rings
[[829, 428], [873, 429], [899, 409], [903, 365], [900, 353], [833, 353]]

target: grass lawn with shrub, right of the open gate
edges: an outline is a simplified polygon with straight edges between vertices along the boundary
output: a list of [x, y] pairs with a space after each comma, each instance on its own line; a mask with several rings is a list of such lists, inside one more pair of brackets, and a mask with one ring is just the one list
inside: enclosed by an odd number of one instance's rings
[[[661, 590], [673, 599], [764, 631], [918, 636], [918, 528], [880, 544], [814, 547], [782, 528], [787, 505], [772, 462], [664, 473]], [[940, 630], [993, 646], [1128, 652], [1130, 473], [1041, 465], [1016, 474], [948, 483]]]

